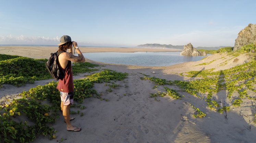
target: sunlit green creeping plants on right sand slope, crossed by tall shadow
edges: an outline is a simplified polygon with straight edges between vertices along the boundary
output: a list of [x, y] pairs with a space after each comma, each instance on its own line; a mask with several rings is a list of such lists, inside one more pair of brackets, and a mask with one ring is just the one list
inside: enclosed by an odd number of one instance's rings
[[[232, 100], [232, 95], [236, 91], [239, 93], [239, 99], [233, 101], [233, 106], [240, 106], [242, 99], [255, 99], [255, 97], [249, 97], [246, 90], [255, 92], [255, 68], [256, 61], [245, 63], [243, 65], [235, 66], [230, 69], [218, 71], [218, 72], [201, 72], [196, 77], [204, 77], [203, 79], [193, 80], [186, 83], [177, 82], [181, 88], [184, 88], [188, 93], [217, 93], [220, 90], [227, 90], [227, 98]], [[196, 72], [196, 71], [195, 71]], [[193, 72], [188, 72], [188, 77]], [[196, 92], [194, 92], [196, 91]]]

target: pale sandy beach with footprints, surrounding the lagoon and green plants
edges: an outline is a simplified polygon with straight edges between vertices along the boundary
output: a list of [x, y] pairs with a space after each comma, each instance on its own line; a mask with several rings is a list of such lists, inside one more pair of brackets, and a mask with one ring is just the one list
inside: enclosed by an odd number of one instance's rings
[[[172, 52], [181, 51], [174, 49], [136, 49], [136, 48], [80, 48], [82, 52]], [[58, 47], [0, 47], [1, 54], [20, 55], [29, 58], [49, 58], [51, 52], [56, 52]], [[222, 58], [225, 57], [225, 58]], [[86, 58], [86, 57], [85, 57]], [[94, 89], [102, 92], [102, 98], [109, 101], [101, 101], [97, 98], [86, 98], [82, 105], [87, 108], [83, 110], [84, 116], [75, 116], [71, 123], [81, 127], [80, 132], [66, 131], [63, 117], [57, 118], [52, 124], [57, 130], [56, 139], [49, 140], [48, 137], [38, 136], [34, 142], [56, 143], [60, 142], [86, 142], [86, 143], [252, 143], [256, 141], [256, 124], [252, 122], [255, 113], [255, 100], [244, 99], [241, 107], [231, 106], [230, 112], [220, 114], [207, 108], [204, 99], [196, 98], [187, 92], [181, 91], [178, 86], [170, 85], [169, 88], [179, 91], [184, 95], [181, 100], [170, 97], [149, 98], [150, 93], [156, 93], [162, 89], [148, 80], [141, 80], [143, 74], [166, 80], [189, 81], [193, 78], [181, 76], [181, 73], [196, 70], [215, 68], [214, 71], [229, 69], [251, 60], [251, 57], [241, 54], [234, 59], [228, 54], [214, 54], [197, 62], [187, 62], [165, 67], [146, 67], [105, 64], [90, 61], [87, 62], [102, 65], [102, 69], [111, 69], [117, 72], [128, 73], [124, 81], [117, 81], [122, 85], [113, 92], [106, 92], [104, 83], [97, 83]], [[221, 63], [231, 59], [225, 65]], [[208, 65], [198, 65], [215, 60]], [[198, 65], [198, 66], [196, 66]], [[79, 74], [74, 79], [84, 78], [88, 73]], [[10, 98], [12, 95], [28, 91], [37, 85], [44, 85], [52, 80], [36, 81], [34, 84], [26, 84], [21, 87], [3, 84], [0, 88], [0, 98]], [[255, 88], [255, 86], [254, 86]], [[248, 93], [255, 97], [255, 93]], [[124, 96], [125, 95], [125, 96]], [[229, 103], [226, 91], [220, 91], [214, 95], [216, 99], [222, 99]], [[189, 104], [196, 105], [206, 114], [203, 118], [194, 118], [193, 109]], [[72, 110], [72, 108], [71, 108]]]

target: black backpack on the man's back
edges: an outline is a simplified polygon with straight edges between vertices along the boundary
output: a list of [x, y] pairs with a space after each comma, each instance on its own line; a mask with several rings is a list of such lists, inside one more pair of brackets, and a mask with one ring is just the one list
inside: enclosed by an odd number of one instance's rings
[[51, 57], [45, 63], [46, 68], [48, 69], [50, 75], [55, 80], [63, 79], [64, 78], [64, 70], [59, 65], [58, 56], [65, 51], [57, 51], [55, 53], [51, 53]]

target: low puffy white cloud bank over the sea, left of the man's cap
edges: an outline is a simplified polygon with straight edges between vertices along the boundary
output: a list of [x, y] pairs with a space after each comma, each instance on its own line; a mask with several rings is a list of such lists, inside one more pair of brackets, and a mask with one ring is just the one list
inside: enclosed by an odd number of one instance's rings
[[60, 38], [58, 36], [54, 38], [49, 38], [45, 36], [33, 36], [33, 37], [26, 37], [24, 35], [20, 36], [2, 36], [0, 35], [0, 44], [45, 44], [45, 45], [52, 45], [58, 44]]

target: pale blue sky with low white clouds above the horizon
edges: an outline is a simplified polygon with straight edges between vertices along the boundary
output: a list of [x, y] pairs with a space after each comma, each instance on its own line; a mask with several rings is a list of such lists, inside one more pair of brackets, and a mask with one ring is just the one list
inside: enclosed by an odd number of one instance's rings
[[234, 46], [255, 0], [1, 0], [0, 44]]

